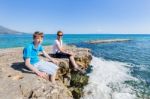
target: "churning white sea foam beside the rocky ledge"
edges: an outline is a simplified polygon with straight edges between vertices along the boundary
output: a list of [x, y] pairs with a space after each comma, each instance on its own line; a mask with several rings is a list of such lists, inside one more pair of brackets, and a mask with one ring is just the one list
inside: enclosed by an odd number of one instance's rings
[[107, 61], [93, 57], [93, 72], [89, 74], [89, 84], [84, 87], [81, 99], [135, 99], [132, 87], [124, 81], [137, 80], [126, 68], [128, 64]]

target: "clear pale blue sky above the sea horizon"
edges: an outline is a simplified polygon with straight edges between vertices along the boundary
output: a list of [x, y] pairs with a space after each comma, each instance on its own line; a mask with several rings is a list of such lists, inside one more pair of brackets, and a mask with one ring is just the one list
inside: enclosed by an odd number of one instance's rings
[[27, 33], [150, 34], [150, 0], [0, 0], [0, 25]]

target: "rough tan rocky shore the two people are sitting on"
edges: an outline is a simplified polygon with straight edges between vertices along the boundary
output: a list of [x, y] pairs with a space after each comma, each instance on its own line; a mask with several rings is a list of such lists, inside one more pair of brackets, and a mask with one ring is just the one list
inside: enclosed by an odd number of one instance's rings
[[[51, 52], [51, 47], [44, 47]], [[73, 71], [68, 59], [57, 59], [59, 67], [56, 85], [38, 77], [24, 66], [23, 48], [0, 49], [0, 98], [1, 99], [79, 99], [88, 76]], [[89, 67], [92, 56], [89, 49], [67, 46], [76, 53], [79, 66]], [[47, 60], [40, 55], [40, 58]]]

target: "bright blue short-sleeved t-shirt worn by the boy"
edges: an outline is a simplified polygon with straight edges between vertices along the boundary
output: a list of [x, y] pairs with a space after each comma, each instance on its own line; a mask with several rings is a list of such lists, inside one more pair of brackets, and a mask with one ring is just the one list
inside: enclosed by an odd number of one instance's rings
[[30, 58], [30, 63], [33, 65], [33, 64], [39, 62], [38, 53], [43, 50], [44, 49], [41, 44], [39, 44], [38, 47], [35, 48], [34, 43], [31, 43], [24, 48], [23, 59], [26, 60], [27, 58]]

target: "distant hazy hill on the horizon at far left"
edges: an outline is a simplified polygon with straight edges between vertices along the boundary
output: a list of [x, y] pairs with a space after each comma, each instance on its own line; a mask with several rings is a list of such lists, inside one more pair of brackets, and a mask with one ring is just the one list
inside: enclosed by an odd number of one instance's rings
[[22, 32], [0, 26], [0, 34], [22, 34]]

